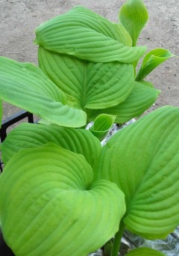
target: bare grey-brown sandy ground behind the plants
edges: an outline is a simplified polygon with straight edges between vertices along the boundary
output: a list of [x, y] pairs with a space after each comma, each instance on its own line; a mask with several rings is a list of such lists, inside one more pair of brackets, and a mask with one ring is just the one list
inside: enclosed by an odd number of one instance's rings
[[[150, 19], [139, 38], [139, 45], [148, 46], [148, 50], [162, 47], [179, 55], [179, 1], [144, 2]], [[37, 64], [37, 46], [33, 43], [34, 29], [41, 22], [65, 13], [78, 4], [117, 22], [122, 3], [124, 1], [121, 0], [0, 0], [0, 55]], [[164, 105], [179, 106], [178, 71], [179, 58], [172, 58], [151, 73], [151, 82], [162, 91], [151, 109]], [[16, 108], [4, 104], [4, 118], [16, 111]]]

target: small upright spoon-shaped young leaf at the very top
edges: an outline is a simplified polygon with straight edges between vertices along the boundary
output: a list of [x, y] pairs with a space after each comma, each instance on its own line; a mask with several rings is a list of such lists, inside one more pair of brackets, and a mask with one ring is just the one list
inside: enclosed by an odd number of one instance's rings
[[148, 10], [142, 0], [127, 0], [119, 10], [119, 20], [131, 34], [133, 46], [139, 37], [142, 28], [148, 22]]

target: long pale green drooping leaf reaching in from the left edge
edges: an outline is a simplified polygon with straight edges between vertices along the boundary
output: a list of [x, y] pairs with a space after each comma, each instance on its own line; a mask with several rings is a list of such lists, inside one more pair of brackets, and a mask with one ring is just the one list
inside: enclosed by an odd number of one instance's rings
[[63, 127], [86, 124], [86, 114], [64, 105], [65, 94], [33, 64], [0, 57], [0, 97]]

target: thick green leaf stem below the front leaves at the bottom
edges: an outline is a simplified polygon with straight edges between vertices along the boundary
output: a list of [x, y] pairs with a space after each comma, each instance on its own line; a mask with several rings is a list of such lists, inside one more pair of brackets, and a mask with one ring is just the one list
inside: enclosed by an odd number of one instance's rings
[[124, 231], [125, 231], [125, 223], [123, 222], [123, 219], [122, 219], [119, 225], [119, 231], [116, 233], [114, 237], [113, 249], [111, 251], [110, 256], [118, 256], [118, 252], [121, 246], [122, 235]]

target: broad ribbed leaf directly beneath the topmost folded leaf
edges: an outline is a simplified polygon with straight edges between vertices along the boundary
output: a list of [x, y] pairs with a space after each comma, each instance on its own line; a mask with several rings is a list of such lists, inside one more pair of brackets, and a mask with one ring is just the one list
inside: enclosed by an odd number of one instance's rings
[[119, 62], [92, 63], [39, 48], [43, 72], [79, 109], [104, 109], [122, 103], [134, 87], [134, 67]]

